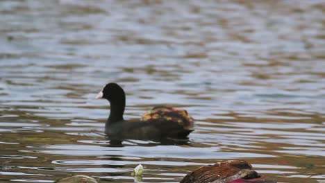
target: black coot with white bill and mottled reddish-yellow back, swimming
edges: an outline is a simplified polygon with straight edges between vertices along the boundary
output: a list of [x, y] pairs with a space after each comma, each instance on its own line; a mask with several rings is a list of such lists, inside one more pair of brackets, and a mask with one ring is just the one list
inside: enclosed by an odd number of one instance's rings
[[169, 106], [153, 107], [144, 113], [142, 120], [124, 120], [126, 97], [124, 90], [117, 83], [108, 83], [96, 98], [105, 98], [110, 102], [110, 115], [105, 132], [112, 140], [186, 139], [193, 131], [193, 119], [188, 112]]

